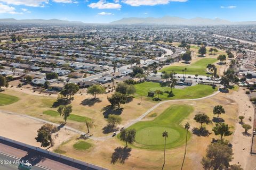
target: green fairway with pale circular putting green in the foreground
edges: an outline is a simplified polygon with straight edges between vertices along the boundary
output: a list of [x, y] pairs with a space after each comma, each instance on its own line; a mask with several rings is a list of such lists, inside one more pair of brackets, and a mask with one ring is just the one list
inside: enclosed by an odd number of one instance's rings
[[[180, 122], [193, 112], [189, 105], [172, 105], [153, 121], [141, 121], [132, 125], [129, 129], [137, 131], [134, 147], [142, 149], [164, 149], [164, 138], [162, 133], [167, 131], [166, 148], [181, 146], [186, 141], [186, 130], [181, 127]], [[190, 133], [188, 133], [188, 139]]]

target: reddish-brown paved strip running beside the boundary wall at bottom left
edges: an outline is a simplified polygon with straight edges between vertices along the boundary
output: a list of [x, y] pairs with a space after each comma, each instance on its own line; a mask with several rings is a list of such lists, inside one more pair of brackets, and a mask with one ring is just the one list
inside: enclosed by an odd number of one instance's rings
[[[21, 160], [28, 160], [32, 164], [35, 170], [51, 169], [51, 170], [95, 170], [84, 165], [76, 164], [65, 159], [54, 157], [41, 152], [16, 145], [11, 142], [0, 140], [0, 152], [19, 158]], [[0, 156], [1, 159], [1, 156]], [[37, 166], [36, 166], [37, 165]], [[40, 166], [40, 167], [38, 167]], [[3, 166], [6, 167], [6, 166]], [[15, 166], [14, 166], [15, 167]], [[14, 168], [10, 166], [9, 169]], [[44, 168], [45, 167], [45, 168]], [[41, 168], [41, 169], [39, 169]], [[3, 170], [0, 165], [0, 169]]]

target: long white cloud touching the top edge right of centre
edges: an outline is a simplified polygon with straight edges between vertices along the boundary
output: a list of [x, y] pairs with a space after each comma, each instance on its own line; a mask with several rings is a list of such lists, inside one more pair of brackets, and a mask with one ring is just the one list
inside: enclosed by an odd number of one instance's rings
[[129, 4], [131, 6], [141, 6], [141, 5], [165, 5], [170, 2], [187, 2], [188, 0], [122, 0], [123, 3]]

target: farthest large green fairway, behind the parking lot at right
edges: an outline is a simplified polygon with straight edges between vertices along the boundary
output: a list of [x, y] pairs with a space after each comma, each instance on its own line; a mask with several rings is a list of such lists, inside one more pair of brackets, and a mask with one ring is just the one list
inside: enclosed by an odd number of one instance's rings
[[169, 67], [165, 67], [164, 69], [160, 70], [159, 72], [162, 71], [166, 71], [166, 72], [176, 72], [179, 74], [185, 73], [182, 72], [182, 70], [185, 69], [185, 67], [187, 68], [186, 74], [191, 74], [191, 75], [207, 75], [206, 74], [206, 66], [208, 64], [212, 64], [214, 62], [216, 62], [217, 59], [216, 58], [202, 58], [201, 60], [198, 60], [197, 62], [193, 63], [193, 64], [188, 64], [186, 66], [169, 66]]

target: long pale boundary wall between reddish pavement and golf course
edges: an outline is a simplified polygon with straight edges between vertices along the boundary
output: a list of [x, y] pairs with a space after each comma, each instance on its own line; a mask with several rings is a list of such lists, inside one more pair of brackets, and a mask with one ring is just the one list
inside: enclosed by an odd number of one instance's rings
[[67, 157], [67, 156], [64, 156], [64, 155], [61, 155], [61, 154], [57, 154], [57, 153], [54, 153], [54, 152], [51, 152], [51, 151], [48, 151], [48, 150], [45, 150], [45, 149], [41, 149], [41, 148], [38, 148], [38, 147], [27, 145], [26, 143], [15, 141], [15, 140], [12, 140], [12, 139], [9, 139], [9, 138], [5, 138], [5, 137], [0, 136], [0, 139], [2, 139], [4, 141], [7, 141], [7, 142], [14, 143], [14, 144], [22, 146], [22, 147], [26, 147], [26, 148], [29, 148], [29, 149], [36, 150], [36, 151], [41, 152], [43, 154], [47, 154], [47, 155], [51, 155], [51, 156], [58, 157], [58, 158], [61, 158], [61, 159], [69, 160], [70, 162], [77, 163], [77, 164], [80, 164], [80, 165], [84, 165], [84, 166], [87, 166], [87, 167], [90, 167], [90, 168], [94, 168], [94, 169], [97, 169], [97, 170], [108, 170], [106, 168], [99, 167], [97, 165], [89, 164], [89, 163], [83, 162], [81, 160], [77, 160], [77, 159], [70, 158], [70, 157]]

